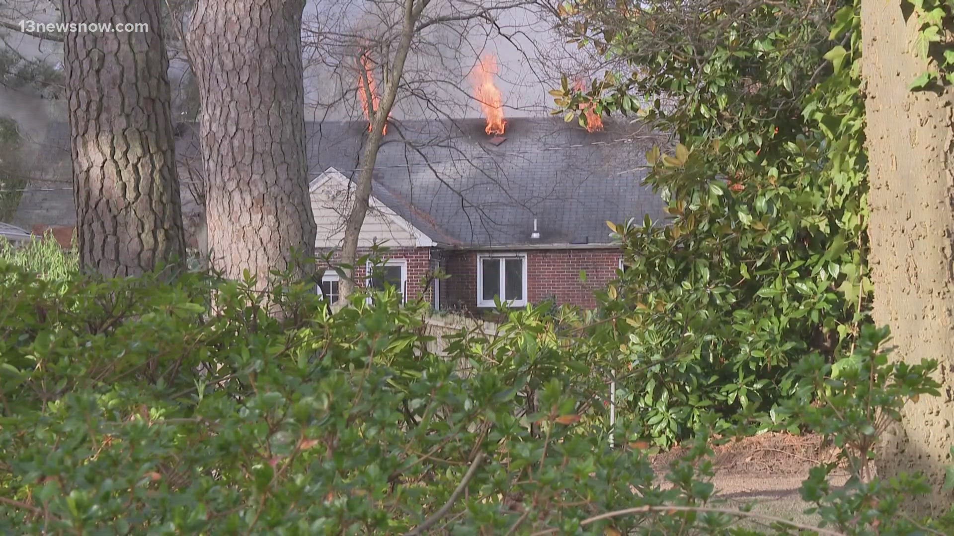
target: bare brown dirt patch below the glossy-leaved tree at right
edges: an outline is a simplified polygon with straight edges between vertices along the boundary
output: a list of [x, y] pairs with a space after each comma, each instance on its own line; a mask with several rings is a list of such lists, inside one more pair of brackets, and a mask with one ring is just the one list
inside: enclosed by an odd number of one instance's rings
[[[811, 467], [835, 460], [837, 450], [821, 443], [819, 436], [766, 433], [714, 446], [717, 497], [730, 507], [757, 503], [754, 512], [814, 526], [815, 516], [803, 513], [810, 505], [801, 501], [798, 488]], [[656, 474], [665, 475], [682, 451], [676, 447], [654, 456]], [[837, 470], [830, 482], [846, 480], [847, 474]]]

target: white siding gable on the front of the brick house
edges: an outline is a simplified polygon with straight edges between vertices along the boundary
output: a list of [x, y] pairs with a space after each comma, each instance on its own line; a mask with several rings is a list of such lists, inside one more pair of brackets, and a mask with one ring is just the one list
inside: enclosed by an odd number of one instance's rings
[[[328, 168], [309, 184], [311, 210], [315, 214], [315, 223], [318, 224], [316, 248], [336, 248], [342, 245], [344, 220], [353, 203], [353, 186], [335, 168]], [[434, 245], [430, 237], [371, 196], [361, 235], [358, 236], [358, 247], [368, 247], [376, 241], [391, 248]]]

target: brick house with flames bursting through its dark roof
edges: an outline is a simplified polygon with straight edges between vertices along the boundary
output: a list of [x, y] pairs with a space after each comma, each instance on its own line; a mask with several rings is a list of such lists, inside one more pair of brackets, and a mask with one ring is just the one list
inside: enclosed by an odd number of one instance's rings
[[[381, 95], [371, 60], [358, 58], [356, 88], [363, 119], [305, 125], [309, 192], [318, 226], [317, 251], [340, 247], [363, 144]], [[552, 299], [595, 305], [621, 267], [619, 245], [606, 221], [665, 217], [659, 196], [642, 184], [646, 152], [659, 136], [646, 125], [604, 119], [590, 107], [587, 128], [562, 118], [508, 116], [494, 84], [497, 64], [481, 57], [470, 73], [483, 118], [389, 119], [373, 174], [361, 250], [389, 248], [384, 281], [405, 299], [425, 298], [440, 309], [472, 312], [500, 298], [512, 306]], [[582, 84], [582, 82], [577, 82]], [[197, 125], [177, 128], [180, 179], [201, 177]], [[27, 229], [75, 225], [69, 183], [69, 129], [51, 125], [45, 179], [25, 192], [14, 223]], [[201, 200], [183, 186], [187, 236], [202, 249]], [[425, 282], [440, 270], [448, 278]], [[358, 267], [361, 284], [366, 267]], [[586, 277], [581, 278], [581, 273]], [[338, 296], [327, 271], [322, 291]], [[369, 281], [374, 283], [375, 281]]]

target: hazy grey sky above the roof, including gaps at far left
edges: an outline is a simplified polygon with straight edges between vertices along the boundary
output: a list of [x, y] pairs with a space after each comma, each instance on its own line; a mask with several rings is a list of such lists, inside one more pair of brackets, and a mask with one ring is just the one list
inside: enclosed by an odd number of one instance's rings
[[[454, 9], [460, 0], [432, 0], [428, 6], [433, 14]], [[496, 1], [496, 0], [494, 0]], [[5, 0], [8, 7], [18, 12], [32, 10], [29, 15], [37, 21], [57, 21], [59, 13], [49, 0]], [[307, 120], [358, 119], [361, 106], [355, 92], [356, 73], [353, 68], [353, 49], [346, 49], [334, 39], [316, 37], [321, 31], [331, 33], [358, 33], [385, 40], [393, 40], [393, 26], [382, 22], [381, 0], [311, 0], [305, 9], [302, 38], [304, 49], [305, 101]], [[467, 4], [472, 5], [472, 4]], [[321, 6], [321, 9], [319, 8]], [[11, 14], [0, 8], [0, 16], [10, 22]], [[386, 13], [385, 13], [386, 14]], [[559, 76], [548, 65], [560, 62], [563, 66], [576, 65], [575, 47], [567, 47], [551, 31], [551, 21], [539, 13], [515, 9], [497, 15], [500, 32], [488, 34], [486, 25], [467, 27], [432, 27], [423, 40], [425, 46], [408, 57], [405, 82], [410, 88], [399, 94], [392, 116], [431, 118], [439, 116], [475, 117], [480, 115], [479, 104], [473, 99], [473, 86], [468, 74], [485, 53], [497, 57], [499, 74], [497, 87], [504, 96], [505, 115], [547, 115], [552, 97], [547, 93], [559, 84]], [[384, 25], [384, 26], [383, 26]], [[317, 32], [317, 33], [316, 33]], [[0, 29], [6, 45], [31, 58], [57, 64], [62, 48], [55, 43]], [[309, 46], [309, 43], [318, 43]], [[572, 67], [568, 68], [572, 69]], [[173, 62], [170, 77], [181, 77], [182, 64]], [[380, 84], [379, 84], [380, 85]], [[419, 95], [419, 96], [414, 96]], [[10, 91], [0, 87], [0, 114], [13, 117], [26, 136], [42, 135], [48, 121], [66, 120], [62, 101], [37, 98], [32, 93]]]

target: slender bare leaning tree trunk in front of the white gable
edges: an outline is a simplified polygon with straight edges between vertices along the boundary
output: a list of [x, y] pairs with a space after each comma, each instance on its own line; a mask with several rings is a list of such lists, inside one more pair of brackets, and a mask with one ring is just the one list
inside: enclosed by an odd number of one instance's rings
[[[344, 238], [342, 244], [342, 264], [354, 266], [358, 258], [358, 238], [361, 236], [361, 228], [364, 224], [364, 216], [367, 215], [368, 202], [371, 198], [371, 180], [374, 175], [374, 166], [378, 160], [378, 150], [381, 148], [381, 142], [384, 138], [384, 126], [387, 123], [387, 116], [394, 108], [394, 100], [398, 95], [398, 87], [404, 77], [404, 62], [407, 60], [407, 52], [410, 51], [411, 41], [414, 38], [415, 26], [421, 18], [421, 12], [425, 9], [430, 0], [419, 0], [415, 4], [414, 0], [404, 0], [404, 18], [401, 30], [401, 40], [398, 44], [398, 50], [395, 52], [394, 62], [391, 65], [390, 72], [384, 77], [386, 89], [384, 98], [381, 99], [379, 110], [374, 110], [374, 120], [371, 125], [371, 133], [368, 134], [364, 142], [364, 149], [361, 155], [360, 171], [358, 175], [358, 184], [355, 187], [355, 202], [351, 207], [344, 222]], [[363, 85], [365, 91], [369, 91], [369, 85]], [[371, 95], [366, 96], [368, 106], [374, 99]], [[353, 268], [344, 269], [344, 278], [339, 281], [339, 302], [354, 290], [354, 271]]]

